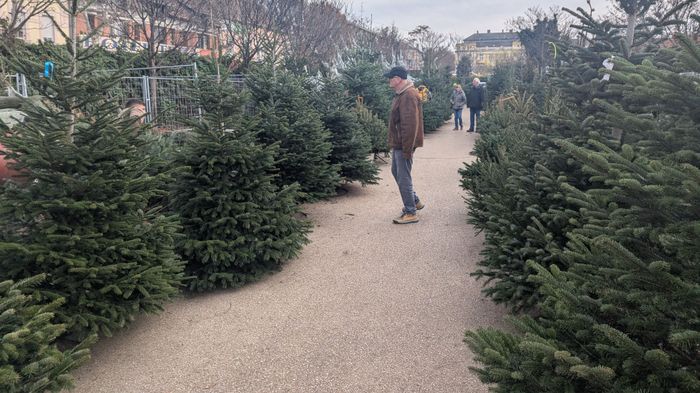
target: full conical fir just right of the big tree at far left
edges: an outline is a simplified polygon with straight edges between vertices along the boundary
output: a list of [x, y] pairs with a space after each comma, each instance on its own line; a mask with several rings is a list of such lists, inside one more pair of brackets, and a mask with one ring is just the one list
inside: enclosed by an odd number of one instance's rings
[[189, 288], [237, 287], [277, 269], [307, 242], [296, 218], [298, 186], [274, 185], [277, 143], [263, 146], [243, 116], [243, 100], [226, 82], [198, 89], [204, 117], [177, 162], [172, 194], [184, 238]]

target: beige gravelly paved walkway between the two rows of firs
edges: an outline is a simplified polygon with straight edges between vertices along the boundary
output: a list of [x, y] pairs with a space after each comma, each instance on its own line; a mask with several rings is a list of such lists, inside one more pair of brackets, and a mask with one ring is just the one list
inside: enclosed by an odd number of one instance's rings
[[462, 338], [505, 312], [469, 277], [481, 237], [457, 170], [475, 136], [451, 127], [416, 155], [420, 223], [391, 223], [401, 203], [383, 165], [379, 185], [307, 207], [312, 242], [281, 272], [100, 340], [75, 392], [487, 392]]

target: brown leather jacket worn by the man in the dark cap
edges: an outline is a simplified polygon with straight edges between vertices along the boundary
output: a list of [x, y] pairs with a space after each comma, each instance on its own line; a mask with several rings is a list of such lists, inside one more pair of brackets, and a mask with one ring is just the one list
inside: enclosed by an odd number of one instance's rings
[[401, 149], [403, 157], [423, 146], [423, 104], [418, 89], [407, 83], [396, 93], [389, 113], [389, 147]]

